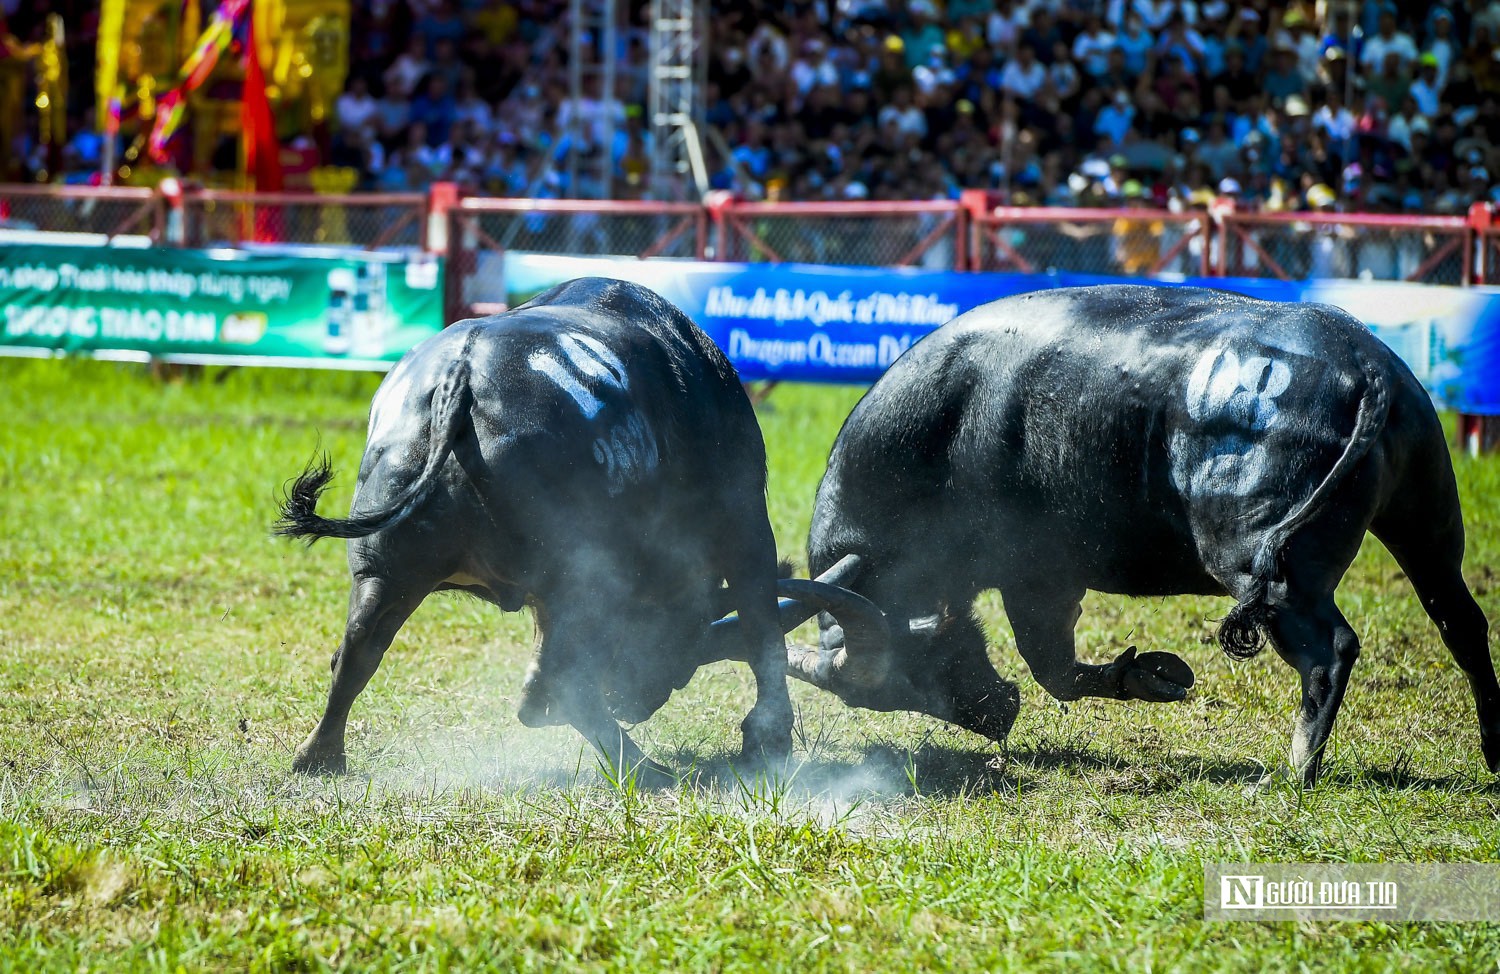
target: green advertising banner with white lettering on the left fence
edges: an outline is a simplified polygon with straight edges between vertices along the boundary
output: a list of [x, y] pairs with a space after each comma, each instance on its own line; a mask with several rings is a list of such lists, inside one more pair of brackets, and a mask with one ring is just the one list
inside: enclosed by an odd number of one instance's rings
[[[386, 369], [442, 330], [436, 257], [0, 246], [0, 353]], [[22, 353], [24, 354], [24, 353]]]

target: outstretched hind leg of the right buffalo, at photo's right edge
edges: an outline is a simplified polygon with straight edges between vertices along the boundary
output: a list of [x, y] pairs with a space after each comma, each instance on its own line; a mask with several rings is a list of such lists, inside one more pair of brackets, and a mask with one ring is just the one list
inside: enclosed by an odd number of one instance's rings
[[[1446, 530], [1431, 530], [1434, 509], [1452, 512]], [[1490, 621], [1468, 591], [1461, 570], [1464, 528], [1458, 519], [1456, 492], [1449, 507], [1432, 506], [1425, 515], [1412, 512], [1383, 518], [1376, 522], [1374, 533], [1412, 579], [1422, 608], [1468, 678], [1479, 713], [1479, 744], [1485, 764], [1500, 774], [1500, 684], [1490, 657]]]

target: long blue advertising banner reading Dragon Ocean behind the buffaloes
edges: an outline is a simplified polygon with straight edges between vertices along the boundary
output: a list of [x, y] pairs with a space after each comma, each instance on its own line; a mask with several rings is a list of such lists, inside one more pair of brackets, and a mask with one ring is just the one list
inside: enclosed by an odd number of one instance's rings
[[[508, 252], [506, 303], [562, 281], [618, 278], [681, 308], [746, 380], [873, 383], [912, 342], [987, 302], [1042, 288], [1142, 284], [1100, 275], [952, 273], [890, 267], [639, 261]], [[1500, 288], [1366, 281], [1188, 278], [1251, 297], [1344, 308], [1400, 354], [1434, 398], [1500, 414]]]

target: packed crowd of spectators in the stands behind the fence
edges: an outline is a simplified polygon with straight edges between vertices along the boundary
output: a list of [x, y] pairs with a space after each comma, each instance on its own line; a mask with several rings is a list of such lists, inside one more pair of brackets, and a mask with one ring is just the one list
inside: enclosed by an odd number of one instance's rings
[[[597, 195], [608, 167], [612, 195], [648, 195], [650, 5], [621, 6], [615, 89], [573, 99], [566, 0], [354, 0], [327, 162], [364, 189], [508, 197]], [[1500, 0], [736, 0], [708, 20], [708, 177], [748, 198], [1500, 201]]]

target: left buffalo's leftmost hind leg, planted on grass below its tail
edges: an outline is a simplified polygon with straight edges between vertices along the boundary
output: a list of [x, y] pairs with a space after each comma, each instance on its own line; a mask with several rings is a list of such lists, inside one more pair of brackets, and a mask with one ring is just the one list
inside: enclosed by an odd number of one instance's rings
[[380, 668], [396, 632], [411, 617], [423, 596], [398, 588], [387, 579], [358, 576], [350, 590], [350, 617], [344, 641], [333, 654], [333, 686], [322, 719], [292, 756], [291, 767], [303, 774], [342, 774], [344, 729], [350, 707]]

